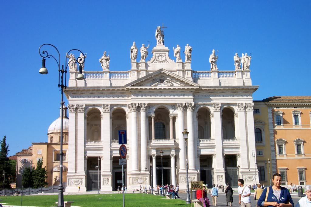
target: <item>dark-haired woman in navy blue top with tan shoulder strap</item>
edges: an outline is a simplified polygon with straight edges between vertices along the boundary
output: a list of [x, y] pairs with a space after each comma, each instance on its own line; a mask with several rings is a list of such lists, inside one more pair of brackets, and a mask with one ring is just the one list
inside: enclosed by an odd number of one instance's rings
[[[273, 186], [269, 186], [263, 190], [258, 199], [258, 206], [269, 207], [293, 207], [294, 202], [287, 188], [281, 186], [282, 176], [275, 173], [272, 176]], [[268, 191], [268, 192], [267, 192]]]

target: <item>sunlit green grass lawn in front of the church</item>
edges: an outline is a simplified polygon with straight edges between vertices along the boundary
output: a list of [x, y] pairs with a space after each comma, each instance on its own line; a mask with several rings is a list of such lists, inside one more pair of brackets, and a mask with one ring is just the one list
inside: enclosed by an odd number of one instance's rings
[[[179, 199], [163, 199], [159, 195], [125, 194], [125, 206], [191, 206], [186, 201]], [[10, 205], [21, 205], [21, 196], [1, 197], [2, 203]], [[23, 196], [24, 206], [55, 206], [57, 195], [27, 195]], [[64, 195], [65, 201], [74, 201], [72, 205], [90, 206], [122, 206], [122, 194], [100, 194], [100, 195]]]

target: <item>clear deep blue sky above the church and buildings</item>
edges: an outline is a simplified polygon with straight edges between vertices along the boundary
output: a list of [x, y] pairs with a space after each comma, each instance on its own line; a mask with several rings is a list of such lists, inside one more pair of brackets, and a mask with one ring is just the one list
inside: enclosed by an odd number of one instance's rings
[[260, 85], [254, 100], [310, 95], [311, 1], [90, 2], [2, 1], [0, 138], [7, 135], [9, 155], [47, 142], [59, 116], [57, 65], [48, 59], [49, 74], [38, 72], [44, 43], [58, 47], [62, 64], [78, 48], [87, 53], [86, 71], [100, 71], [106, 50], [111, 71], [129, 70], [132, 42], [154, 47], [156, 26], [164, 23], [169, 49], [193, 47], [193, 70], [209, 70], [212, 49], [219, 50], [220, 70], [234, 70], [235, 53], [252, 53], [251, 77]]

